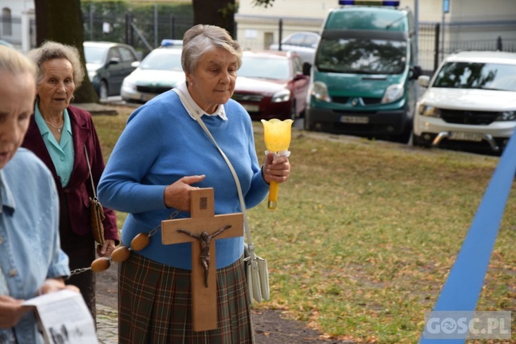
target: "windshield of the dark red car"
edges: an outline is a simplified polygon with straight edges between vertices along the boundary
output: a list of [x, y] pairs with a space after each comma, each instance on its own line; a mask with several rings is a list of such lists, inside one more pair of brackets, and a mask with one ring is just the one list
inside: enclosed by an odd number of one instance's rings
[[285, 80], [290, 78], [290, 66], [286, 58], [243, 56], [238, 76]]

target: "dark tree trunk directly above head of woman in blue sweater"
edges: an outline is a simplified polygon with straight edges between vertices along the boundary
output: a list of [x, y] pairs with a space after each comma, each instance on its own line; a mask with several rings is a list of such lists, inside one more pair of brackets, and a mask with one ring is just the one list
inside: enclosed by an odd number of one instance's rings
[[235, 38], [235, 0], [193, 0], [193, 23], [217, 25]]

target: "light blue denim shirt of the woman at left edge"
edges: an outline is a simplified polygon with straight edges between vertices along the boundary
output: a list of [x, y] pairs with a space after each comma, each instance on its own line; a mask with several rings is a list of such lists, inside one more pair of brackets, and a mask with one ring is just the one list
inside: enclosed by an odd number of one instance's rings
[[[2, 294], [30, 299], [47, 278], [67, 277], [68, 257], [59, 243], [59, 201], [47, 166], [20, 148], [0, 169], [0, 285]], [[33, 312], [11, 329], [0, 330], [0, 343], [43, 343]]]

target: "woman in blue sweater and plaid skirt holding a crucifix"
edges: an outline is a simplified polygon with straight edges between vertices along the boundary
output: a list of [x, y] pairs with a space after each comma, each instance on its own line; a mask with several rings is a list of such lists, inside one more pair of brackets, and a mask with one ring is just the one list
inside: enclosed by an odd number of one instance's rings
[[[246, 206], [257, 206], [272, 180], [285, 182], [288, 158], [270, 153], [260, 166], [250, 116], [230, 97], [241, 47], [226, 30], [195, 25], [184, 34], [186, 81], [175, 89], [190, 103], [237, 171]], [[131, 114], [100, 179], [106, 206], [129, 213], [122, 243], [162, 220], [190, 217], [190, 191], [211, 187], [215, 213], [241, 211], [228, 165], [178, 94], [165, 92]], [[252, 343], [244, 237], [216, 241], [217, 329], [194, 332], [191, 319], [191, 244], [161, 244], [161, 233], [119, 266], [120, 343]]]

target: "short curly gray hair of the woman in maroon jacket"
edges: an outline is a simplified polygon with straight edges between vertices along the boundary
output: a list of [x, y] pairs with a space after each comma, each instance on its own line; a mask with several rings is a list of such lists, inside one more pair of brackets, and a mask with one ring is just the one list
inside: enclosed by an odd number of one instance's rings
[[41, 65], [45, 61], [53, 60], [54, 58], [65, 58], [72, 64], [74, 69], [74, 84], [75, 89], [78, 89], [84, 80], [83, 64], [80, 63], [79, 51], [72, 45], [64, 45], [54, 41], [45, 41], [40, 47], [31, 50], [28, 56], [36, 63], [38, 67], [37, 83], [41, 83], [43, 79], [43, 71]]

